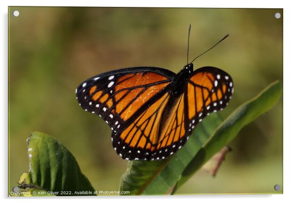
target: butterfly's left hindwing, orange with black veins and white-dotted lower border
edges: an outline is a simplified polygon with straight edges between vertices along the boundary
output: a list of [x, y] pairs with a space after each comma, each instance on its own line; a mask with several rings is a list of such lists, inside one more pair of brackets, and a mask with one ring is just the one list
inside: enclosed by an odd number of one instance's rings
[[168, 92], [159, 97], [121, 133], [112, 132], [113, 147], [118, 155], [129, 160], [154, 159], [161, 119], [169, 97]]

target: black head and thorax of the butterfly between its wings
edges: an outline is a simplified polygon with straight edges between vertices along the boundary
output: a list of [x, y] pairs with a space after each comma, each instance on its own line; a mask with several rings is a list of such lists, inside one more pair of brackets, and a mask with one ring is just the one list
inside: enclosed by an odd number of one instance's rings
[[182, 70], [180, 70], [174, 77], [173, 81], [173, 90], [172, 90], [172, 96], [178, 97], [180, 96], [185, 87], [185, 83], [190, 77], [190, 74], [194, 71], [194, 66], [193, 64], [185, 65]]

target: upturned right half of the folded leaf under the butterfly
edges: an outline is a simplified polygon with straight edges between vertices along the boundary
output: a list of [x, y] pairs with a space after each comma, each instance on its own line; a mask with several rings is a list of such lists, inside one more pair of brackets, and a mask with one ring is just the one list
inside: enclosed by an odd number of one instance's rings
[[262, 90], [256, 97], [231, 113], [223, 121], [208, 143], [198, 151], [197, 155], [185, 168], [174, 191], [194, 175], [213, 155], [218, 153], [228, 142], [235, 138], [244, 126], [255, 120], [261, 114], [270, 111], [277, 103], [281, 93], [282, 88], [280, 82], [274, 82]]

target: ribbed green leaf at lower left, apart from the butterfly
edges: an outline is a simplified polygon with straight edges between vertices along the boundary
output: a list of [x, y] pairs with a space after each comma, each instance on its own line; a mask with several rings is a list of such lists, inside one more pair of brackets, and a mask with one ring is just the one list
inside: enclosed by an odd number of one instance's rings
[[21, 176], [19, 187], [40, 188], [56, 196], [95, 195], [74, 156], [58, 140], [33, 132], [27, 139], [27, 149], [29, 172]]

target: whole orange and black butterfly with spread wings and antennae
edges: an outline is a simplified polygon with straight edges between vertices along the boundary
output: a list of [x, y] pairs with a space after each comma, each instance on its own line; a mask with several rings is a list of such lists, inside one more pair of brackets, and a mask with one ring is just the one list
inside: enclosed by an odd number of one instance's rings
[[227, 106], [234, 90], [229, 74], [214, 67], [194, 71], [194, 60], [177, 74], [155, 67], [105, 72], [81, 83], [76, 98], [111, 127], [113, 147], [123, 159], [168, 158], [204, 117]]

